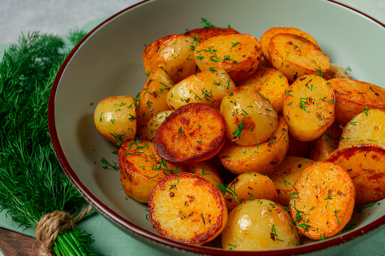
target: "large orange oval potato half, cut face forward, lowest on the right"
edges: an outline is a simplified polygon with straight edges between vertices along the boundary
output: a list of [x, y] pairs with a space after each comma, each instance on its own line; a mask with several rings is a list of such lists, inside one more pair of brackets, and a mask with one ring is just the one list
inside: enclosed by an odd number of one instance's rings
[[322, 240], [345, 227], [354, 203], [355, 189], [346, 169], [330, 162], [315, 162], [293, 185], [290, 216], [302, 235]]

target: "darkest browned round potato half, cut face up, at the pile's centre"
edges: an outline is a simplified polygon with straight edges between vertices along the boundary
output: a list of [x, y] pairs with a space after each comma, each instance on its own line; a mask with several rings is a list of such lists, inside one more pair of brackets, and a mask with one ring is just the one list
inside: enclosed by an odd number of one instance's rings
[[210, 159], [224, 144], [226, 124], [214, 107], [189, 103], [172, 112], [159, 126], [154, 145], [158, 154], [174, 163]]

